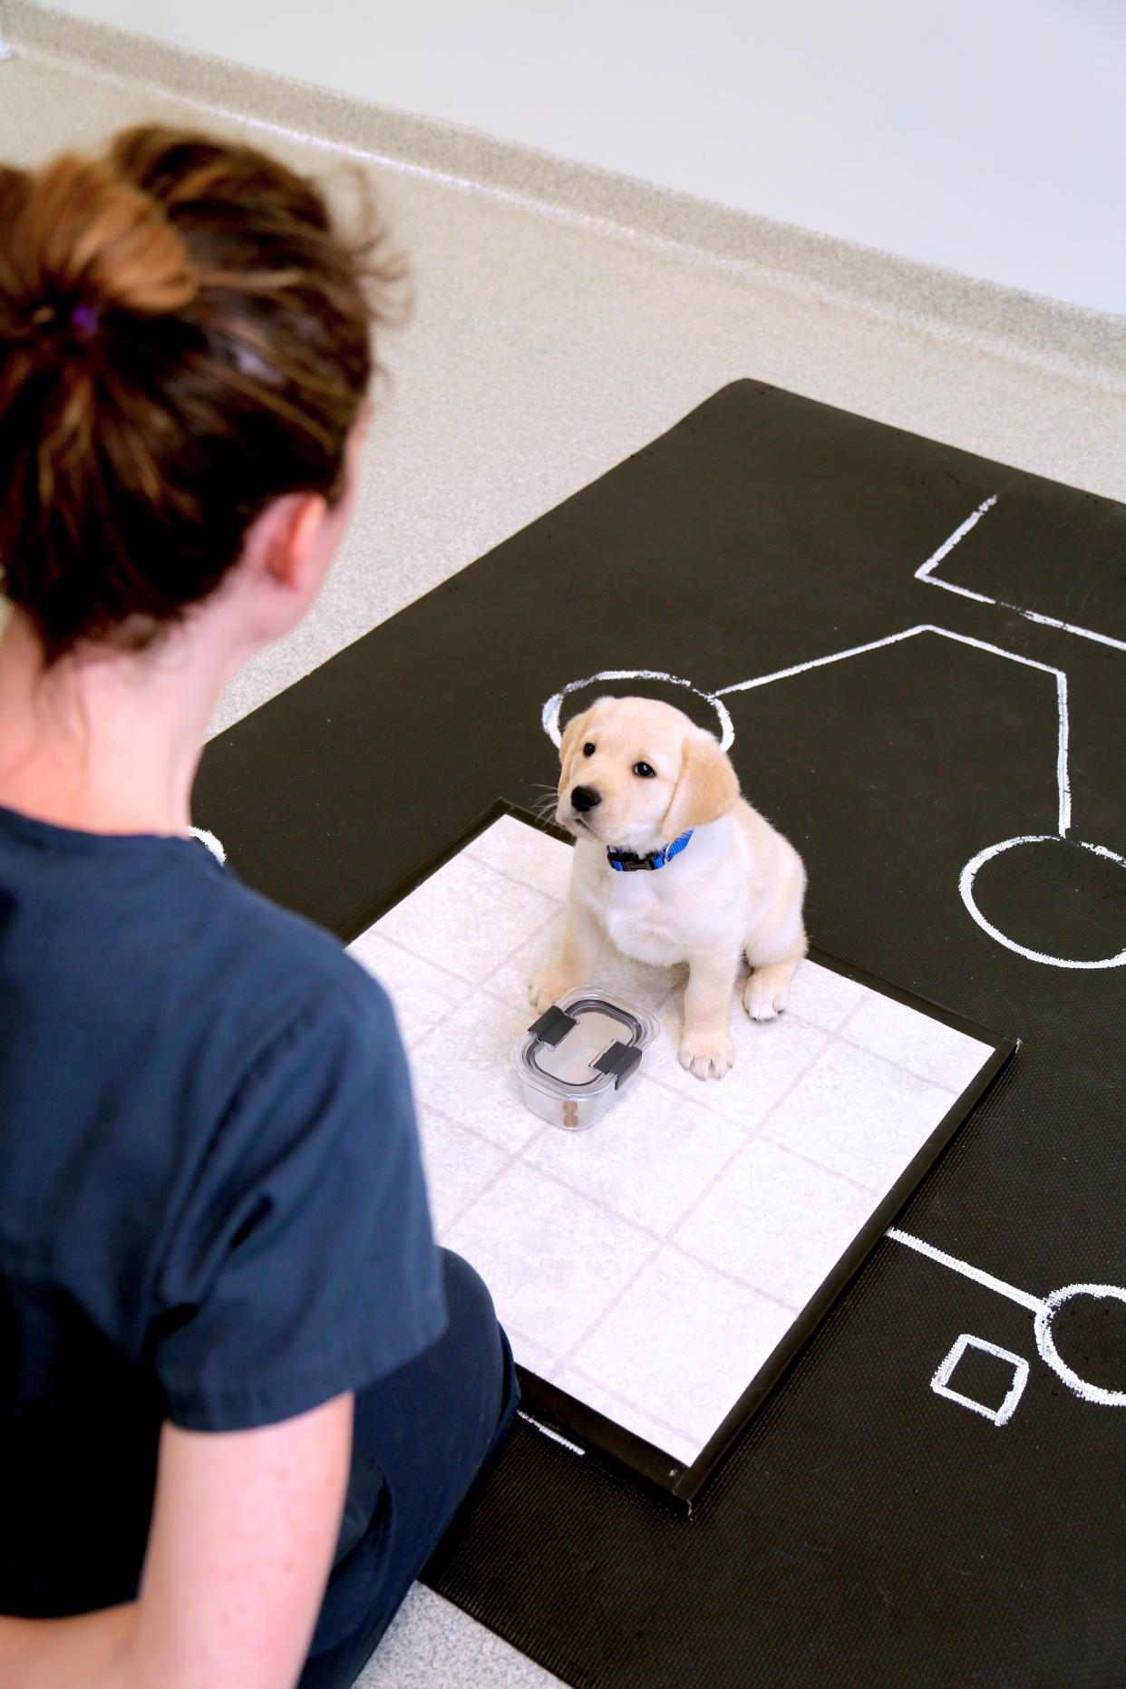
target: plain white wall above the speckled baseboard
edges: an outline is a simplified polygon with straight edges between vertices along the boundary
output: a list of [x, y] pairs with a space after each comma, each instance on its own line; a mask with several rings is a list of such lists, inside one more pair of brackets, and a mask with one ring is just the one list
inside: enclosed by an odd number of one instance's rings
[[746, 211], [1126, 311], [1126, 0], [62, 0]]

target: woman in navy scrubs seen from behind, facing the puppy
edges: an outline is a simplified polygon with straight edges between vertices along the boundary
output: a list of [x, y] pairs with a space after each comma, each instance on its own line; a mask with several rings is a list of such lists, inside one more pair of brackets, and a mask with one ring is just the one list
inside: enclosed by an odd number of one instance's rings
[[402, 267], [262, 154], [0, 171], [0, 1682], [353, 1681], [515, 1412], [380, 986], [189, 836]]

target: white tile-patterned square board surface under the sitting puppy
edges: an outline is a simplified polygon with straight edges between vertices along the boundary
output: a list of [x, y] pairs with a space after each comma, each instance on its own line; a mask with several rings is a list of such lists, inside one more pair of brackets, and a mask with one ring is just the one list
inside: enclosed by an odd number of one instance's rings
[[680, 983], [603, 951], [658, 1015], [589, 1132], [525, 1106], [571, 850], [501, 816], [349, 946], [410, 1051], [437, 1236], [488, 1282], [517, 1360], [692, 1464], [993, 1045], [812, 961], [775, 1022], [733, 1002], [736, 1064], [677, 1062]]

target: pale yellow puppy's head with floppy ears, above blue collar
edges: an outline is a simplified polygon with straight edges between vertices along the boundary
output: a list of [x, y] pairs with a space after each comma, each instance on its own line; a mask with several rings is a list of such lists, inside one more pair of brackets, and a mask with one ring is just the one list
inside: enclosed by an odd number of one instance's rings
[[717, 821], [739, 782], [711, 733], [655, 698], [599, 698], [567, 723], [555, 819], [638, 856]]

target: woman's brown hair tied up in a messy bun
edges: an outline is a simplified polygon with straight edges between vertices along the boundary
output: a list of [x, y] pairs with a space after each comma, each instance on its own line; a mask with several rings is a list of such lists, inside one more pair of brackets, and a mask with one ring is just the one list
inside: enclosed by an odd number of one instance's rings
[[368, 208], [160, 127], [0, 167], [0, 574], [46, 660], [142, 647], [277, 497], [336, 502], [405, 265]]

